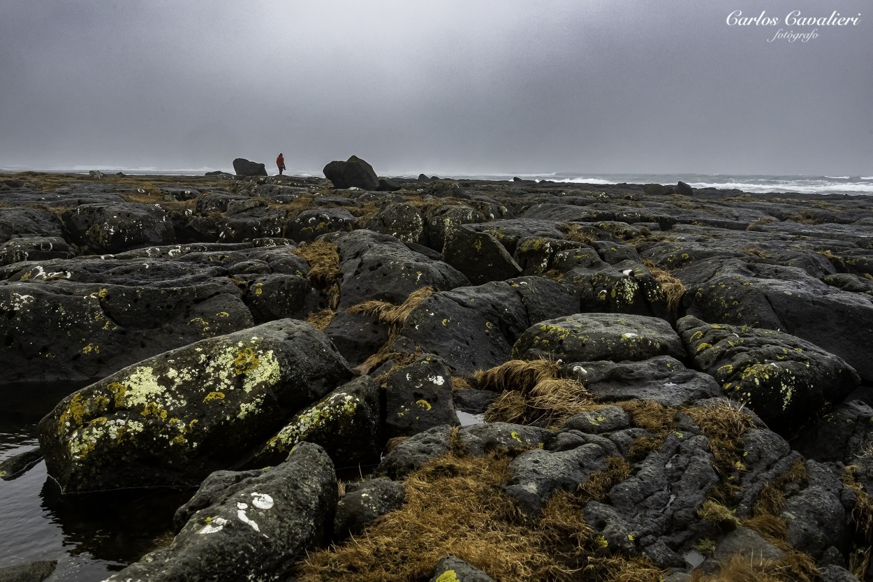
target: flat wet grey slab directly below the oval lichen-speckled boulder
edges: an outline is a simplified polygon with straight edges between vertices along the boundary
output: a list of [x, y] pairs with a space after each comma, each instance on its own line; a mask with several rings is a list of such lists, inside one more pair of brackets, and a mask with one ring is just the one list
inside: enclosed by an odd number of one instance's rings
[[561, 375], [580, 381], [606, 402], [639, 399], [681, 406], [722, 394], [709, 374], [689, 370], [670, 356], [640, 362], [574, 362], [565, 364]]

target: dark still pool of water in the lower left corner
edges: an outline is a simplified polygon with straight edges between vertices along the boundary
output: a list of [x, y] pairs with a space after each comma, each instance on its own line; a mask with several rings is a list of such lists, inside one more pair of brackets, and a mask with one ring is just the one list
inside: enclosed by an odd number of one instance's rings
[[[70, 386], [3, 390], [0, 461], [38, 447], [38, 420], [69, 391]], [[17, 479], [0, 481], [0, 567], [57, 560], [47, 580], [105, 579], [167, 543], [173, 513], [190, 495], [164, 489], [61, 495], [40, 461]]]

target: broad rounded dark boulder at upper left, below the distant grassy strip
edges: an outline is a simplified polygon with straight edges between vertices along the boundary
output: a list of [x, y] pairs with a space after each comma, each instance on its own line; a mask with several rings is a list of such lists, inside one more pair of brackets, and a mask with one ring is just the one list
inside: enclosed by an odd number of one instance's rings
[[175, 242], [173, 225], [158, 206], [79, 204], [64, 212], [63, 221], [69, 239], [95, 254]]

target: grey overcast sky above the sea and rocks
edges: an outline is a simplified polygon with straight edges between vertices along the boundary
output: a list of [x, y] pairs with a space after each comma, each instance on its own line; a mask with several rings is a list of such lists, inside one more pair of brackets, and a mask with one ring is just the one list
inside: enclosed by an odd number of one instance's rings
[[[727, 17], [779, 20], [728, 25]], [[787, 25], [836, 10], [856, 25]], [[780, 29], [817, 38], [772, 42]], [[0, 0], [0, 169], [873, 175], [869, 0]]]

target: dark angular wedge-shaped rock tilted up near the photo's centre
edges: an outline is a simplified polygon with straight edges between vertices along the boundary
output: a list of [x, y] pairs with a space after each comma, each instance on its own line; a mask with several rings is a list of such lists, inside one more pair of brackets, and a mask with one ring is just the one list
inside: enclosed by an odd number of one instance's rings
[[443, 260], [466, 275], [474, 285], [505, 281], [521, 274], [521, 267], [497, 239], [464, 225], [446, 233]]

